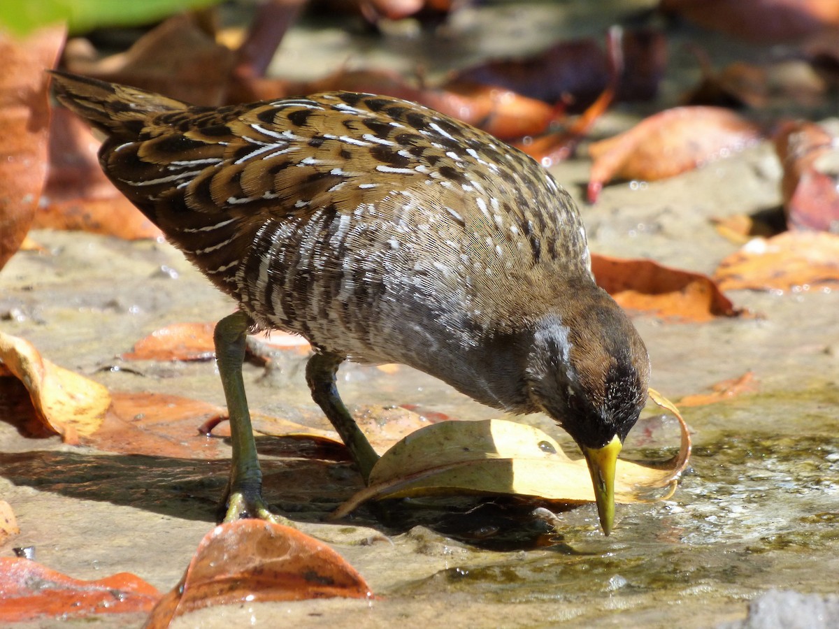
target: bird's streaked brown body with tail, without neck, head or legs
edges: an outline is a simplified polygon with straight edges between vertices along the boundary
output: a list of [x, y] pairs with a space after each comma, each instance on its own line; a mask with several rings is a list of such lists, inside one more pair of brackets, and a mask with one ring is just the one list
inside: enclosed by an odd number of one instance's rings
[[462, 353], [543, 314], [569, 279], [593, 287], [565, 190], [425, 107], [330, 92], [211, 109], [55, 81], [109, 135], [117, 188], [263, 327], [424, 368], [420, 349]]

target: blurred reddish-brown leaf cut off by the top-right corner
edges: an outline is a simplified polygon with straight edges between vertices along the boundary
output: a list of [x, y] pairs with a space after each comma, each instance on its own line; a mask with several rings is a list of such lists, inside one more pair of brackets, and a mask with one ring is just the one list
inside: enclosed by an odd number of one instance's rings
[[836, 0], [660, 0], [659, 10], [763, 44], [839, 25]]

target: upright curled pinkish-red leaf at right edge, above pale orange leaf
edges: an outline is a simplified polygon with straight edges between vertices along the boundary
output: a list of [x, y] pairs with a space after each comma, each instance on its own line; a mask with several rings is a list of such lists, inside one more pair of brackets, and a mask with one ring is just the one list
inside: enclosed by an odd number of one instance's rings
[[837, 138], [813, 122], [789, 122], [774, 143], [784, 167], [781, 195], [789, 226], [839, 232]]

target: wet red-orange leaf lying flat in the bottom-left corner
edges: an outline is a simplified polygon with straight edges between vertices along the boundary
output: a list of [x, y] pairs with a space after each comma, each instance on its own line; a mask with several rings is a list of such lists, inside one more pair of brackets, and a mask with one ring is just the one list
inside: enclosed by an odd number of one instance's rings
[[31, 559], [0, 557], [0, 621], [148, 612], [160, 593], [127, 572], [85, 581]]

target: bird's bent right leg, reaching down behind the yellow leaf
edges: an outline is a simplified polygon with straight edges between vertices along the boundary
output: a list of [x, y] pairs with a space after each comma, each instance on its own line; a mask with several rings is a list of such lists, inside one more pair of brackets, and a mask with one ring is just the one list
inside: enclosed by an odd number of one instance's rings
[[373, 470], [378, 455], [362, 430], [358, 428], [356, 420], [347, 411], [347, 407], [341, 402], [341, 396], [338, 394], [335, 374], [343, 361], [342, 356], [331, 352], [315, 354], [306, 364], [306, 382], [309, 383], [312, 399], [326, 414], [326, 418], [350, 450], [352, 460], [358, 466], [366, 485], [370, 478], [370, 470]]

